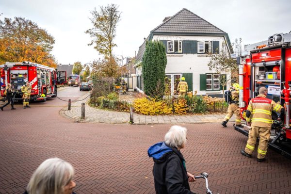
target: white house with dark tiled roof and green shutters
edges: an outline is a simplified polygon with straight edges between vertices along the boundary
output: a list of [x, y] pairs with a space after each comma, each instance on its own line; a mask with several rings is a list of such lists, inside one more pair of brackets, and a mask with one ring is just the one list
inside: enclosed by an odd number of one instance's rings
[[[189, 91], [199, 95], [222, 97], [220, 73], [210, 71], [207, 52], [219, 52], [226, 42], [227, 51], [233, 53], [228, 34], [188, 9], [182, 9], [171, 17], [165, 17], [163, 23], [153, 29], [136, 56], [137, 90], [143, 90], [142, 61], [146, 41], [161, 41], [166, 48], [167, 65], [166, 84], [171, 95], [177, 95], [179, 79], [185, 77]], [[230, 79], [230, 74], [226, 75]]]

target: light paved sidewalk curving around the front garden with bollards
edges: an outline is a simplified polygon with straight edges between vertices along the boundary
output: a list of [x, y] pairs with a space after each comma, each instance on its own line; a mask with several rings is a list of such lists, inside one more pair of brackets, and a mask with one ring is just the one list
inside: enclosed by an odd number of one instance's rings
[[[83, 95], [79, 99], [86, 97]], [[114, 123], [114, 124], [125, 124], [129, 123], [129, 113], [107, 111], [102, 109], [97, 109], [90, 107], [87, 103], [85, 104], [85, 118], [81, 119], [81, 103], [88, 100], [84, 99], [79, 102], [72, 103], [70, 111], [64, 108], [60, 111], [62, 116], [66, 118], [73, 119], [79, 122], [89, 122], [89, 123]], [[185, 124], [185, 123], [213, 123], [222, 122], [225, 114], [215, 113], [215, 114], [203, 114], [203, 115], [141, 115], [134, 113], [133, 121], [134, 124]], [[229, 125], [234, 121], [234, 116], [230, 119]]]

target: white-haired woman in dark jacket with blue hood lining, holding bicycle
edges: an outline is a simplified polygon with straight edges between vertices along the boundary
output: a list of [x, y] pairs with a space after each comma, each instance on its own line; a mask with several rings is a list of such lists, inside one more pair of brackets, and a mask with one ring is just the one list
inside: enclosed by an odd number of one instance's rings
[[[185, 147], [187, 129], [172, 126], [165, 135], [165, 141], [148, 148], [149, 157], [154, 160], [153, 175], [156, 194], [194, 194], [189, 182], [195, 181], [186, 170], [180, 149]], [[188, 182], [189, 181], [189, 182]]]

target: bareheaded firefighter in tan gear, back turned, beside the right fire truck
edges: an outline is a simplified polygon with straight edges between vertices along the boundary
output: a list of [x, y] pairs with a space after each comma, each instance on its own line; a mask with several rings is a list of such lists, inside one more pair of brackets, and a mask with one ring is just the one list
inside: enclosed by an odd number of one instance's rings
[[265, 161], [267, 154], [268, 141], [270, 139], [272, 127], [272, 111], [276, 113], [284, 113], [284, 108], [275, 103], [275, 101], [266, 98], [268, 89], [265, 87], [259, 88], [259, 95], [251, 99], [246, 110], [246, 122], [251, 126], [249, 130], [249, 138], [245, 149], [241, 150], [241, 154], [251, 157], [259, 137], [258, 146], [258, 162]]

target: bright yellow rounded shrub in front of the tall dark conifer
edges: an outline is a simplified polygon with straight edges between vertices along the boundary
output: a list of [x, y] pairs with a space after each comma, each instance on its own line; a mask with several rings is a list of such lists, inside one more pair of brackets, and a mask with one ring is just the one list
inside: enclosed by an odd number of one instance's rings
[[133, 107], [136, 113], [146, 115], [160, 115], [172, 113], [172, 108], [168, 106], [165, 102], [152, 98], [147, 99], [146, 97], [135, 99]]

